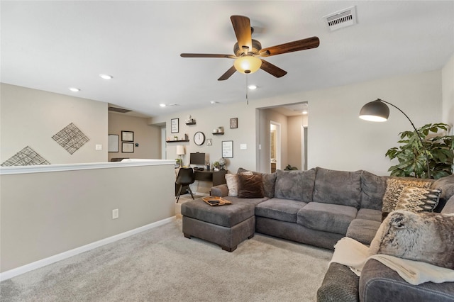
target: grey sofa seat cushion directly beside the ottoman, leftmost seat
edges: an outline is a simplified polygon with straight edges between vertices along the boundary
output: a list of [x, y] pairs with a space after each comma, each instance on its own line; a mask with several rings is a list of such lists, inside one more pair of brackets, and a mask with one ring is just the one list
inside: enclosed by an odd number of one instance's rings
[[271, 198], [255, 207], [255, 215], [289, 223], [297, 223], [297, 213], [306, 203], [289, 199]]

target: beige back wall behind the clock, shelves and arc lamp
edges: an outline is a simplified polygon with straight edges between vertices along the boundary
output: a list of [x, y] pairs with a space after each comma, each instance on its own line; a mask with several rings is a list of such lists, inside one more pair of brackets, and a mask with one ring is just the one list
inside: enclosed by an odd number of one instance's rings
[[[370, 82], [332, 87], [329, 89], [304, 91], [299, 94], [282, 95], [269, 99], [244, 101], [236, 104], [218, 104], [197, 111], [186, 111], [172, 116], [160, 116], [150, 123], [167, 123], [170, 133], [170, 118], [180, 118], [183, 133], [189, 133], [190, 142], [187, 152], [209, 152], [211, 159], [221, 156], [220, 141], [233, 140], [234, 158], [228, 169], [236, 171], [238, 167], [257, 169], [267, 172], [265, 161], [268, 160], [267, 135], [260, 133], [262, 118], [257, 108], [266, 108], [283, 104], [309, 104], [308, 123], [308, 169], [326, 167], [355, 171], [366, 169], [379, 175], [389, 175], [387, 169], [394, 164], [384, 154], [390, 147], [397, 146], [398, 134], [410, 130], [408, 120], [395, 108], [386, 123], [372, 123], [358, 118], [360, 108], [377, 98], [384, 99], [401, 108], [416, 127], [442, 120], [441, 70], [406, 74]], [[182, 127], [182, 121], [191, 114], [197, 125]], [[228, 119], [238, 117], [238, 129], [228, 129]], [[211, 128], [223, 125], [226, 135], [214, 137]], [[194, 145], [192, 135], [203, 130], [208, 137], [214, 138], [214, 146]], [[240, 143], [247, 143], [248, 150], [239, 150]], [[258, 149], [262, 145], [261, 150]], [[175, 158], [175, 146], [167, 144], [167, 158]], [[187, 156], [186, 156], [187, 160]]]

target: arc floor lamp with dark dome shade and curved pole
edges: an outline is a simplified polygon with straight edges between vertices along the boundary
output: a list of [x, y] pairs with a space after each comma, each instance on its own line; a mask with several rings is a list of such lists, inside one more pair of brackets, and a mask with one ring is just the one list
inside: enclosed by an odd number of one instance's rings
[[431, 168], [429, 167], [429, 164], [428, 164], [428, 154], [427, 154], [426, 147], [424, 147], [423, 139], [421, 138], [421, 135], [419, 135], [418, 130], [416, 130], [416, 127], [414, 126], [414, 124], [411, 121], [411, 119], [409, 118], [409, 116], [407, 116], [404, 113], [404, 111], [402, 111], [399, 107], [397, 107], [387, 101], [383, 101], [382, 99], [376, 99], [375, 101], [370, 101], [369, 103], [362, 106], [362, 108], [360, 110], [360, 118], [362, 118], [365, 121], [372, 121], [372, 122], [387, 121], [387, 119], [389, 118], [389, 107], [387, 106], [387, 104], [393, 106], [394, 108], [396, 108], [397, 110], [402, 112], [402, 114], [404, 114], [404, 116], [411, 123], [411, 126], [414, 128], [414, 131], [418, 135], [419, 142], [421, 142], [421, 147], [423, 147], [424, 154], [426, 155], [427, 177], [431, 178]]

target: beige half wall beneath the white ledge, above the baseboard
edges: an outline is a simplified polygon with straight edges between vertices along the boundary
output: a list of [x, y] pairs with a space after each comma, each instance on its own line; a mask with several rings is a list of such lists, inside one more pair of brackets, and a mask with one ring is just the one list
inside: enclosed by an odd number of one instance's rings
[[175, 216], [173, 164], [0, 177], [1, 272]]

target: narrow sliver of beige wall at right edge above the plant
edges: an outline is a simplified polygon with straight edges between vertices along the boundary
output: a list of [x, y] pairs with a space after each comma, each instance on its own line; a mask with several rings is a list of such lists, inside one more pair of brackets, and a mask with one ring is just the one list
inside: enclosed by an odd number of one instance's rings
[[[443, 123], [454, 125], [454, 55], [443, 67]], [[454, 135], [454, 128], [450, 129], [450, 135]]]

